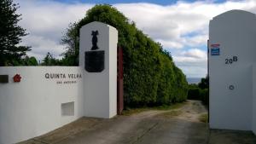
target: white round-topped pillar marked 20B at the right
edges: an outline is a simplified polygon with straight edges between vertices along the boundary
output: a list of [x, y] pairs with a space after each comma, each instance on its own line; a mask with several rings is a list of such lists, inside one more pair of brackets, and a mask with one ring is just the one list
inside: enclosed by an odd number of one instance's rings
[[[211, 55], [211, 47], [209, 54], [211, 128], [252, 130], [255, 37], [255, 14], [231, 10], [210, 21], [209, 45], [220, 44], [220, 55]], [[238, 61], [225, 64], [232, 56]]]

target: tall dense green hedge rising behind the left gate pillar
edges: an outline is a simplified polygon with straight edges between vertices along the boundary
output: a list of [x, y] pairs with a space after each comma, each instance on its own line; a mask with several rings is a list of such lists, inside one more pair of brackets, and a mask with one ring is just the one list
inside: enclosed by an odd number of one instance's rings
[[174, 65], [170, 52], [163, 50], [160, 43], [143, 34], [134, 22], [110, 5], [96, 5], [87, 11], [84, 19], [69, 26], [62, 37], [62, 43], [67, 44], [64, 65], [78, 65], [79, 29], [93, 21], [106, 23], [119, 32], [118, 44], [124, 52], [126, 106], [157, 106], [187, 99], [187, 81]]

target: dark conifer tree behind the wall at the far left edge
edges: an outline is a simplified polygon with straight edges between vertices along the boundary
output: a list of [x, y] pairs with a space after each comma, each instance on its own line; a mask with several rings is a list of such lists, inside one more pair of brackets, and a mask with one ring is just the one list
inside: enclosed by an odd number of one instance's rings
[[27, 35], [26, 30], [18, 26], [20, 14], [16, 14], [19, 8], [13, 0], [0, 1], [0, 66], [20, 65], [22, 56], [30, 47], [20, 46], [21, 37]]

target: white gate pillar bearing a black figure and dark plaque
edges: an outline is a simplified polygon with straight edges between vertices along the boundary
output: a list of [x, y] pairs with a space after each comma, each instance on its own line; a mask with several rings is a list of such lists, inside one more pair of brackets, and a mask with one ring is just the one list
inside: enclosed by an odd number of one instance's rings
[[117, 108], [117, 42], [118, 32], [112, 26], [91, 22], [80, 29], [79, 66], [84, 68], [84, 52], [92, 47], [91, 32], [98, 31], [98, 50], [105, 51], [102, 72], [84, 71], [84, 116], [112, 118]]

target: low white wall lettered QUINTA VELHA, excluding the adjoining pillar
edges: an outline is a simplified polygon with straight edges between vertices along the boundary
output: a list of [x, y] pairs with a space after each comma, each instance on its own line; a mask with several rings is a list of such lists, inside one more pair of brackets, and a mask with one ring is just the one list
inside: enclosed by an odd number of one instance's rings
[[[46, 73], [63, 73], [66, 78], [45, 78]], [[0, 144], [25, 141], [82, 117], [83, 78], [67, 76], [80, 73], [80, 67], [72, 66], [0, 67], [0, 75], [9, 75], [9, 83], [0, 84]], [[14, 83], [15, 74], [20, 74], [20, 83]], [[72, 101], [74, 115], [62, 116], [61, 103]]]

